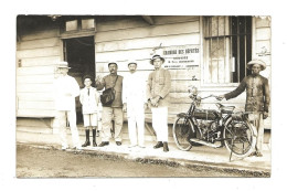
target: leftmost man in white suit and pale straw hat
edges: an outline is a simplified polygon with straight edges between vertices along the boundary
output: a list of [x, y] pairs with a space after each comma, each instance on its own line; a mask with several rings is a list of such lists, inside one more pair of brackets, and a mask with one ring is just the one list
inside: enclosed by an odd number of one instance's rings
[[81, 150], [75, 109], [75, 97], [79, 95], [79, 86], [74, 77], [67, 75], [68, 68], [71, 67], [67, 66], [67, 62], [60, 62], [57, 65], [60, 76], [54, 81], [55, 109], [57, 113], [62, 150], [68, 148], [66, 139], [67, 120], [71, 127], [73, 147]]

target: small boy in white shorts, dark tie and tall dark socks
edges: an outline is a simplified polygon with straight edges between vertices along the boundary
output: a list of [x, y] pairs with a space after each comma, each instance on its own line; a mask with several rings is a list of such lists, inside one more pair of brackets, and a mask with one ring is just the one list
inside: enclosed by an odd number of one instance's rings
[[79, 102], [82, 104], [82, 112], [84, 117], [84, 127], [86, 131], [86, 141], [82, 147], [91, 146], [89, 142], [89, 127], [93, 130], [93, 147], [97, 147], [96, 144], [96, 127], [98, 126], [99, 116], [99, 93], [92, 86], [92, 77], [89, 75], [84, 76], [85, 87], [81, 89]]

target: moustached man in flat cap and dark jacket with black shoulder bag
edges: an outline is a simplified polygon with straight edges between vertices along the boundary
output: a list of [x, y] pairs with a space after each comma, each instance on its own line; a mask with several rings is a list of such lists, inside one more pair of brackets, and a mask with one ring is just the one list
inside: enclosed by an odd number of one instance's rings
[[121, 127], [123, 127], [123, 100], [121, 100], [121, 92], [123, 92], [123, 76], [117, 75], [118, 65], [115, 62], [108, 63], [109, 75], [106, 75], [100, 81], [96, 79], [96, 86], [98, 91], [103, 88], [107, 89], [114, 87], [115, 89], [115, 99], [111, 105], [103, 105], [103, 134], [102, 134], [102, 144], [98, 147], [104, 147], [109, 145], [110, 139], [110, 129], [111, 129], [111, 119], [114, 115], [115, 119], [115, 141], [117, 146], [121, 145]]

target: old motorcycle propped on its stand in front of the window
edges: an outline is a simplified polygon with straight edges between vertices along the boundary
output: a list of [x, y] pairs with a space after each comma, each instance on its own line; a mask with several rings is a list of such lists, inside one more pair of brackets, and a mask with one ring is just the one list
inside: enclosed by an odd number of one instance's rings
[[195, 145], [213, 148], [226, 147], [232, 155], [244, 158], [255, 148], [256, 130], [248, 120], [248, 113], [234, 112], [235, 106], [224, 106], [215, 103], [216, 109], [200, 108], [201, 100], [217, 96], [198, 96], [194, 86], [189, 87], [189, 97], [192, 99], [187, 113], [177, 115], [172, 134], [180, 150], [188, 151]]

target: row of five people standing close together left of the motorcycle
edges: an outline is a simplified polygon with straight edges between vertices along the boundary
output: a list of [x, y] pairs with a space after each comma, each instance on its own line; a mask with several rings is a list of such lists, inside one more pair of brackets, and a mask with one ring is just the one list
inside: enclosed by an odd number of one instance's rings
[[[103, 78], [96, 78], [96, 91], [91, 86], [92, 78], [84, 77], [85, 87], [79, 92], [79, 87], [72, 76], [67, 75], [68, 65], [62, 62], [59, 65], [61, 76], [55, 81], [56, 87], [56, 110], [59, 119], [60, 137], [62, 149], [67, 148], [66, 140], [66, 119], [68, 120], [73, 146], [81, 150], [82, 147], [89, 146], [89, 126], [93, 130], [93, 146], [96, 147], [96, 126], [102, 119], [102, 142], [98, 147], [109, 145], [111, 138], [111, 128], [114, 120], [114, 138], [117, 146], [121, 145], [121, 128], [124, 123], [124, 112], [127, 112], [129, 147], [145, 148], [145, 109], [151, 108], [152, 127], [157, 135], [155, 149], [168, 147], [168, 105], [169, 92], [171, 87], [171, 77], [168, 70], [162, 68], [164, 59], [160, 55], [153, 55], [150, 64], [155, 71], [150, 73], [148, 83], [137, 72], [137, 62], [128, 63], [129, 74], [125, 77], [117, 74], [118, 65], [116, 62], [108, 63], [109, 74]], [[114, 88], [115, 99], [111, 105], [103, 105], [102, 117], [99, 117], [99, 95], [97, 91]], [[84, 126], [86, 127], [86, 141], [79, 145], [78, 131], [76, 127], [75, 97], [79, 95], [82, 112], [84, 116]], [[65, 107], [64, 107], [65, 105]], [[68, 106], [67, 106], [68, 105]], [[94, 123], [93, 123], [94, 121]]]

